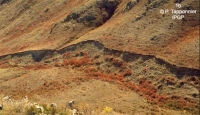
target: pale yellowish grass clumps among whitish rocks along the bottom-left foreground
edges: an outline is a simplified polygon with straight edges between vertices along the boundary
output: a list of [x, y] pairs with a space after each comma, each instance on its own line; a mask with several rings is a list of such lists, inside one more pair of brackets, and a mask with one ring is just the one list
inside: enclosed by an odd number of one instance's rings
[[[48, 104], [39, 104], [43, 107], [44, 111], [37, 109], [34, 103], [25, 100], [3, 100], [3, 110], [0, 111], [0, 115], [72, 115], [71, 110], [63, 105], [58, 105], [56, 108], [51, 107]], [[92, 109], [89, 104], [80, 103], [74, 108], [78, 110], [77, 115], [123, 115], [116, 113], [110, 107]]]

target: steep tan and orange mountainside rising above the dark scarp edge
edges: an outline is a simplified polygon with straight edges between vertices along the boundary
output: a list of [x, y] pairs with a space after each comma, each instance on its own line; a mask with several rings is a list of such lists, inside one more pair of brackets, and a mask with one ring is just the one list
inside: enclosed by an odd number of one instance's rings
[[[160, 14], [160, 9], [176, 9], [172, 1], [137, 3], [133, 0], [132, 8], [126, 11], [128, 2], [131, 1], [17, 0], [5, 3], [0, 12], [1, 55], [55, 49], [75, 41], [95, 39], [114, 49], [152, 54], [176, 65], [199, 68], [199, 11], [186, 15], [184, 21], [172, 20], [172, 14]], [[181, 9], [188, 5], [194, 10], [199, 8], [197, 0], [181, 4]]]

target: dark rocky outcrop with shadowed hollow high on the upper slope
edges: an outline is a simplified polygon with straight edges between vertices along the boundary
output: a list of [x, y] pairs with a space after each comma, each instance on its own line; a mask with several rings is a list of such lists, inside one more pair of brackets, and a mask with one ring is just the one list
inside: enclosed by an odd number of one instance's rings
[[101, 26], [112, 17], [118, 4], [119, 0], [90, 1], [72, 11], [64, 22], [75, 20], [87, 26]]

